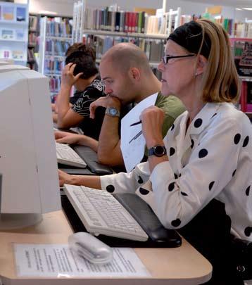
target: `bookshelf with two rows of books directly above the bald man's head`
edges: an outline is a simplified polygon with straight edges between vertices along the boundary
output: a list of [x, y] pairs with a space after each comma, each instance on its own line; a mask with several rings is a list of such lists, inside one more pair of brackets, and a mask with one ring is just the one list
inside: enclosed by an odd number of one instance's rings
[[144, 11], [120, 11], [117, 4], [101, 9], [87, 8], [87, 1], [79, 0], [73, 10], [73, 43], [84, 42], [96, 48], [96, 62], [114, 44], [132, 42], [145, 51], [153, 72], [163, 55], [168, 34], [179, 26], [181, 8], [166, 12], [166, 1], [156, 15]]

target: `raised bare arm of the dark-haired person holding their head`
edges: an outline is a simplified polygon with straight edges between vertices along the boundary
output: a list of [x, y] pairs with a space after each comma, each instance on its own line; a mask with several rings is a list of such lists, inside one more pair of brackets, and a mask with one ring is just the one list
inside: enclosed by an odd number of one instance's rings
[[53, 122], [56, 122], [58, 127], [67, 129], [69, 127], [77, 126], [82, 120], [83, 117], [75, 113], [70, 108], [70, 92], [73, 87], [73, 84], [80, 78], [82, 73], [73, 75], [75, 70], [75, 64], [68, 63], [65, 65], [65, 68], [62, 71], [61, 77], [61, 90], [58, 93], [56, 108], [58, 110], [57, 115], [53, 116]]

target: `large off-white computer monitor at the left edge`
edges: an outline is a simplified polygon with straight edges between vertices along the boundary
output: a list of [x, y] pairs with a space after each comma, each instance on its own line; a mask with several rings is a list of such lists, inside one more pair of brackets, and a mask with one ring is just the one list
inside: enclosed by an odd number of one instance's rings
[[48, 78], [0, 65], [0, 229], [61, 209]]

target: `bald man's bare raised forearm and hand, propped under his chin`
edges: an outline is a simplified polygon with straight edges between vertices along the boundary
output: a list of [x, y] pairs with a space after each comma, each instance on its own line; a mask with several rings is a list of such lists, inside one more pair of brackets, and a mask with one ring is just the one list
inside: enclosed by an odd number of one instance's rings
[[[121, 103], [113, 96], [101, 97], [90, 104], [91, 118], [94, 118], [95, 110], [99, 106], [105, 108], [113, 107], [120, 111]], [[118, 132], [119, 120], [120, 118], [118, 117], [104, 116], [97, 149], [99, 163], [110, 166], [124, 165]]]

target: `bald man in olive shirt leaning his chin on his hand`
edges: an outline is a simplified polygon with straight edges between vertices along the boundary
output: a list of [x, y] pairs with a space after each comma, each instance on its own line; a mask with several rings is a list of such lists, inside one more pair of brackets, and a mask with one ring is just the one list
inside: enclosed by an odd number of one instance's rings
[[[99, 66], [101, 79], [105, 83], [105, 93], [109, 96], [101, 97], [90, 105], [90, 117], [94, 118], [97, 107], [106, 108], [106, 115], [96, 144], [99, 162], [118, 166], [124, 165], [120, 150], [120, 112], [122, 106], [128, 103], [139, 103], [160, 92], [161, 83], [153, 75], [149, 60], [144, 51], [130, 43], [116, 44], [102, 57]], [[184, 112], [182, 102], [175, 96], [165, 97], [158, 93], [156, 106], [163, 109], [165, 122], [163, 136], [172, 126], [175, 118]], [[73, 135], [69, 135], [73, 141]], [[68, 139], [64, 140], [68, 143]], [[82, 144], [79, 137], [79, 144]], [[94, 149], [94, 148], [93, 148]]]

